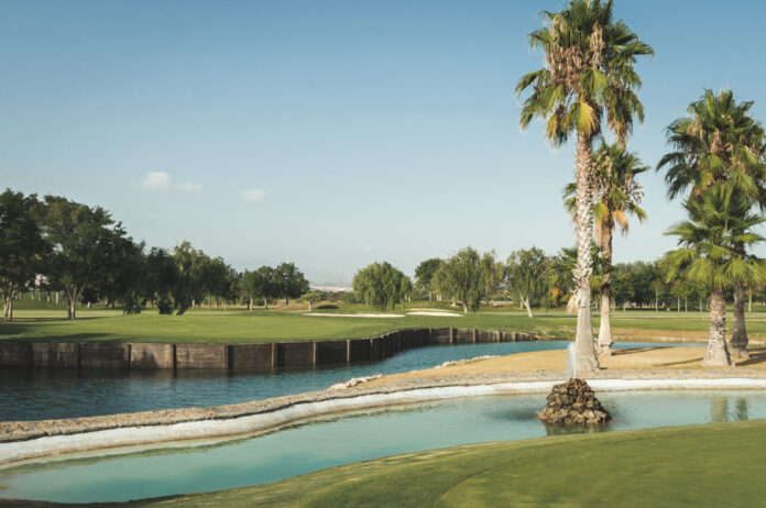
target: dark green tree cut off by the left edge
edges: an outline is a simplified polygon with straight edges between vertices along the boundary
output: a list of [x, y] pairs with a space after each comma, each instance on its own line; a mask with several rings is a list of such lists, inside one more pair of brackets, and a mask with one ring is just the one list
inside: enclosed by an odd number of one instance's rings
[[40, 202], [7, 189], [0, 195], [0, 291], [4, 319], [13, 319], [13, 300], [20, 289], [39, 274], [48, 255], [40, 228]]

